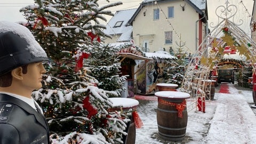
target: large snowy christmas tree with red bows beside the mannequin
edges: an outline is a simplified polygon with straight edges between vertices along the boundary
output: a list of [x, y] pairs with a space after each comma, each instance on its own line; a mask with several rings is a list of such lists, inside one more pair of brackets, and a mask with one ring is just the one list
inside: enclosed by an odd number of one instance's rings
[[41, 1], [20, 11], [50, 63], [44, 86], [33, 96], [43, 108], [52, 143], [123, 143], [127, 115], [110, 112], [109, 94], [87, 74], [84, 59], [90, 58], [95, 42], [104, 36], [99, 19], [113, 15], [107, 9], [121, 2], [99, 7], [98, 1]]

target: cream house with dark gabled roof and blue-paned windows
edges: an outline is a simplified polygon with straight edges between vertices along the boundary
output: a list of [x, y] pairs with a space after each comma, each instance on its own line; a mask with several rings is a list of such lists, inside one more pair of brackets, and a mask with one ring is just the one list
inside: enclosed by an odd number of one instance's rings
[[195, 53], [208, 33], [206, 7], [205, 0], [143, 1], [129, 20], [135, 44], [145, 52], [185, 45], [187, 54]]

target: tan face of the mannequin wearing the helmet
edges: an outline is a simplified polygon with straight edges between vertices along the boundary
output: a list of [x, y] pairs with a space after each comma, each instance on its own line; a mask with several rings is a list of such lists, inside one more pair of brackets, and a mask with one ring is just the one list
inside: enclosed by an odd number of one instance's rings
[[22, 85], [24, 90], [34, 91], [42, 87], [42, 74], [46, 73], [42, 62], [30, 63], [27, 74], [23, 74]]

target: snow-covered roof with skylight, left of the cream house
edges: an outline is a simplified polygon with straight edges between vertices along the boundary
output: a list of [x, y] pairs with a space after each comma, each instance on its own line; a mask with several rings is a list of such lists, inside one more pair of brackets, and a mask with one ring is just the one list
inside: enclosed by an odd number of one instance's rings
[[117, 11], [112, 17], [106, 29], [103, 31], [108, 35], [120, 35], [117, 42], [129, 42], [132, 39], [132, 26], [128, 21], [137, 9]]

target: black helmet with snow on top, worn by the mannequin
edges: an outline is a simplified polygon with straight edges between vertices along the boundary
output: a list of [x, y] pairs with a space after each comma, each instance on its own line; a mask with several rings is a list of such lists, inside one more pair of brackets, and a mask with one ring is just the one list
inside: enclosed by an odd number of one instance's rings
[[26, 27], [0, 21], [0, 75], [33, 62], [49, 61]]

